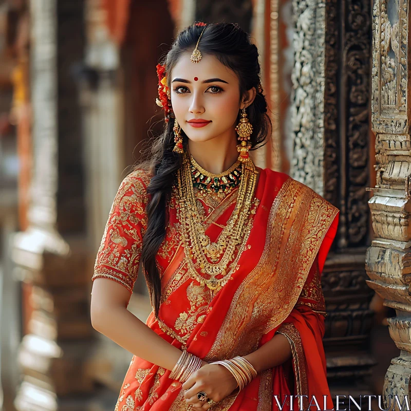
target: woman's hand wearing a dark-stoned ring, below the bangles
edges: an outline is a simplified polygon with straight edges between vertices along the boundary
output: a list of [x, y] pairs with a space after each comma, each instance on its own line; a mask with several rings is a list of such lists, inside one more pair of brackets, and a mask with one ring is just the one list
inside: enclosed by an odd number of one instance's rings
[[193, 405], [194, 409], [209, 409], [211, 405], [207, 401], [200, 401], [197, 394], [204, 391], [208, 400], [218, 402], [234, 391], [237, 381], [225, 366], [203, 361], [201, 368], [193, 372], [182, 387], [187, 404]]

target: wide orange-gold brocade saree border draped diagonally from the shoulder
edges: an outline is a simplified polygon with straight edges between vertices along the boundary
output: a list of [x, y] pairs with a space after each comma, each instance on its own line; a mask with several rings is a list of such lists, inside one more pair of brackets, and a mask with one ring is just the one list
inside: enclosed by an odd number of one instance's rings
[[[238, 287], [205, 361], [248, 354], [286, 319], [337, 213], [304, 184], [286, 180], [271, 207], [263, 255]], [[245, 312], [258, 315], [245, 319]]]

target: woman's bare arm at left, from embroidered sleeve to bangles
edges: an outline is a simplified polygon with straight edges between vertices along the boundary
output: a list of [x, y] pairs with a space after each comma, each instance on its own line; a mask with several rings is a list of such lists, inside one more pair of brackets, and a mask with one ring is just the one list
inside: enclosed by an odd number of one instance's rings
[[91, 324], [127, 351], [172, 370], [182, 351], [127, 310], [129, 291], [110, 279], [96, 278], [91, 292]]

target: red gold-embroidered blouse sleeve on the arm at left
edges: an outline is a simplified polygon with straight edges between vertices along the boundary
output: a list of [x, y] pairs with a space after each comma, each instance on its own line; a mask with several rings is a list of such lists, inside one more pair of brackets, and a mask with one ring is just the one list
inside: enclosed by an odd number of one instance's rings
[[145, 205], [148, 181], [142, 171], [129, 174], [121, 182], [111, 206], [97, 253], [92, 281], [108, 278], [130, 293], [137, 279], [142, 238], [147, 227]]

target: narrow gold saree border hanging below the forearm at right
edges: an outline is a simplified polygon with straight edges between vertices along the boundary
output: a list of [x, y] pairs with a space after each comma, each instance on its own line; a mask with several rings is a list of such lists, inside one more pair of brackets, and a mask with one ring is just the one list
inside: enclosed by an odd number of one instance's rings
[[[292, 361], [294, 365], [294, 377], [296, 383], [297, 395], [308, 396], [308, 383], [307, 373], [305, 368], [305, 354], [303, 344], [301, 342], [300, 333], [295, 328], [294, 324], [283, 323], [279, 326], [276, 334], [283, 334], [290, 343], [292, 352]], [[301, 406], [301, 400], [303, 399], [303, 409], [308, 409], [308, 397], [299, 397], [299, 406]]]

